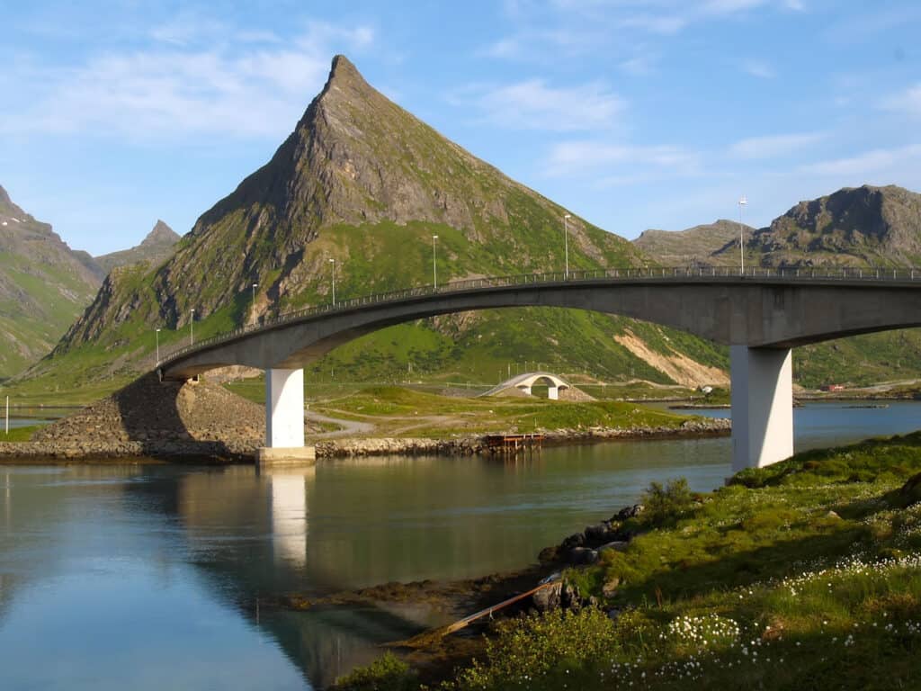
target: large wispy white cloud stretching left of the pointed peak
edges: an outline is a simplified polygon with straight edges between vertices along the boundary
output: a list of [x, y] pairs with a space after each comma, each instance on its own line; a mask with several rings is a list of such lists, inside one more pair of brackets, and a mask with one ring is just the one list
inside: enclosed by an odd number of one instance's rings
[[31, 106], [4, 118], [0, 132], [277, 137], [321, 88], [334, 49], [359, 50], [374, 38], [368, 27], [315, 23], [285, 44], [268, 36], [201, 41], [213, 30], [206, 21], [184, 32], [161, 27], [153, 47], [95, 55], [76, 67], [33, 62], [18, 84], [7, 74], [6, 88]]

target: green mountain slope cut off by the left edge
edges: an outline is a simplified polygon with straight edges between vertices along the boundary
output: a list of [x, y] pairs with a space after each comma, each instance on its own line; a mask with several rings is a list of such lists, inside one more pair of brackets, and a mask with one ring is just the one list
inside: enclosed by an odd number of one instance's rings
[[52, 349], [93, 299], [100, 273], [0, 187], [0, 379]]

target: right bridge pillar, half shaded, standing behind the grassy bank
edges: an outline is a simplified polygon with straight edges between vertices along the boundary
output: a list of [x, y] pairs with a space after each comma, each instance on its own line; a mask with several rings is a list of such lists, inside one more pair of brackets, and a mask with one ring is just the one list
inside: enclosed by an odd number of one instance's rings
[[789, 348], [729, 347], [732, 472], [793, 455], [793, 364]]

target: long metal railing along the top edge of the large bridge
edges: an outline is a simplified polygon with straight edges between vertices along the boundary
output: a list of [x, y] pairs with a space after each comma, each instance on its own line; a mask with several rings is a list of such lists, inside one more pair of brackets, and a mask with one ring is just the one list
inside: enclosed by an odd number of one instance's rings
[[589, 269], [570, 271], [554, 271], [544, 274], [515, 274], [503, 276], [484, 276], [482, 278], [464, 278], [458, 281], [449, 281], [437, 287], [419, 286], [392, 290], [385, 293], [371, 293], [358, 298], [337, 300], [335, 304], [316, 305], [278, 314], [270, 319], [260, 319], [259, 322], [248, 326], [241, 326], [229, 332], [216, 334], [205, 338], [194, 345], [183, 345], [175, 348], [160, 359], [157, 367], [169, 364], [178, 357], [185, 356], [193, 351], [207, 348], [231, 341], [239, 336], [255, 334], [272, 329], [280, 324], [297, 322], [313, 316], [331, 312], [355, 310], [367, 305], [377, 305], [385, 302], [402, 302], [413, 298], [426, 298], [432, 295], [459, 293], [467, 290], [482, 290], [491, 287], [528, 287], [542, 283], [587, 283], [592, 281], [624, 280], [634, 281], [650, 280], [699, 280], [701, 282], [720, 280], [744, 280], [746, 278], [769, 279], [798, 279], [800, 281], [917, 281], [921, 282], [921, 268], [887, 268], [887, 267], [762, 267], [746, 266], [742, 270], [739, 266], [624, 266], [608, 267], [603, 269]]

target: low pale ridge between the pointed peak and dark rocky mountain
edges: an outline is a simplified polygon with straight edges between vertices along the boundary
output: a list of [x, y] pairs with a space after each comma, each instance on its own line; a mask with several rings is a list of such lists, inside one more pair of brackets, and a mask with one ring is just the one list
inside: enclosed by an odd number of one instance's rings
[[[741, 226], [738, 221], [720, 219], [687, 230], [646, 230], [634, 244], [666, 266], [739, 264], [740, 231], [752, 237], [755, 229]], [[729, 251], [733, 246], [734, 255]]]

